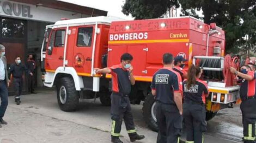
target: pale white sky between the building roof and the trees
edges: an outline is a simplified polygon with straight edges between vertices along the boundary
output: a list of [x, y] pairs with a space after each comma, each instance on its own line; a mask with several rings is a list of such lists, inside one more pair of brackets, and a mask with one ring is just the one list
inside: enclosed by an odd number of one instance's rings
[[131, 16], [126, 16], [121, 12], [121, 6], [124, 5], [125, 0], [58, 0], [74, 4], [79, 4], [83, 6], [88, 6], [90, 8], [96, 8], [108, 11], [108, 16], [119, 17], [123, 19], [133, 19]]

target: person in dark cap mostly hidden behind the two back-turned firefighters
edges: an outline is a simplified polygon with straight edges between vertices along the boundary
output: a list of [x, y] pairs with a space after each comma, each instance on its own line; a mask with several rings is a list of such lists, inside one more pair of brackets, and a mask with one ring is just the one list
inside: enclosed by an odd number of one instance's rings
[[184, 81], [184, 79], [187, 79], [187, 72], [183, 69], [185, 67], [186, 61], [187, 60], [184, 59], [182, 56], [176, 56], [174, 58], [173, 70], [180, 74], [182, 81]]

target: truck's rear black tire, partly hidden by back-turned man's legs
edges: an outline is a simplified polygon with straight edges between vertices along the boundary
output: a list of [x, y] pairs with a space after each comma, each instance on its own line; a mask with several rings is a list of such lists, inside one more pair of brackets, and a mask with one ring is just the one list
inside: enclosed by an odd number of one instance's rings
[[[159, 128], [157, 127], [157, 124], [156, 124], [156, 118], [155, 119], [153, 118], [153, 115], [151, 112], [152, 106], [155, 105], [155, 101], [156, 100], [154, 99], [154, 96], [151, 93], [148, 94], [148, 96], [144, 100], [142, 111], [143, 111], [144, 120], [148, 124], [149, 128], [157, 132]], [[156, 117], [156, 115], [154, 116]]]

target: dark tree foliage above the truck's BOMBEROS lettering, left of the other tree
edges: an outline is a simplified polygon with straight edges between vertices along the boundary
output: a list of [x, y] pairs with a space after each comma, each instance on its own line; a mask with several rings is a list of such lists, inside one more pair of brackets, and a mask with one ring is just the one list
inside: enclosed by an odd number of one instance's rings
[[178, 8], [178, 0], [126, 0], [122, 12], [135, 19], [159, 18], [172, 6]]

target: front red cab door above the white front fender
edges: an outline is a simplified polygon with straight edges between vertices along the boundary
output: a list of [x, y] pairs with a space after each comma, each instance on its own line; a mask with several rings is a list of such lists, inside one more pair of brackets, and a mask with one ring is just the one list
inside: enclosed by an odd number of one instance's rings
[[65, 29], [54, 29], [48, 42], [46, 69], [56, 70], [63, 66]]

